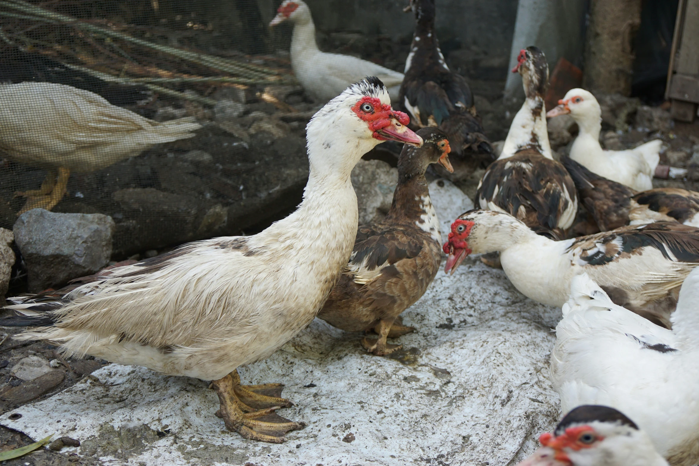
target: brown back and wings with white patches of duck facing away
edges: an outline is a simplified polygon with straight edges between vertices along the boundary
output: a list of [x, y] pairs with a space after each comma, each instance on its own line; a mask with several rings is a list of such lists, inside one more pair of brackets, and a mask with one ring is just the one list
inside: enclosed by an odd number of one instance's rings
[[476, 205], [511, 214], [558, 239], [575, 219], [577, 196], [561, 163], [526, 149], [491, 163], [476, 191]]

